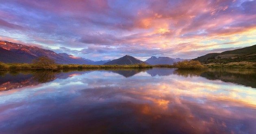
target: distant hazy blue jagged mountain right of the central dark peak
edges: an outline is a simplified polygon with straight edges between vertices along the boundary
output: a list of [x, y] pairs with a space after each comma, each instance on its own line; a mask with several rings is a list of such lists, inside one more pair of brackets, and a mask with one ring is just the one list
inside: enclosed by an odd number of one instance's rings
[[145, 62], [150, 63], [151, 65], [159, 65], [159, 64], [164, 64], [164, 65], [172, 65], [174, 62], [179, 62], [179, 61], [184, 61], [185, 59], [181, 58], [170, 58], [170, 57], [158, 57], [156, 58], [155, 56], [152, 56]]

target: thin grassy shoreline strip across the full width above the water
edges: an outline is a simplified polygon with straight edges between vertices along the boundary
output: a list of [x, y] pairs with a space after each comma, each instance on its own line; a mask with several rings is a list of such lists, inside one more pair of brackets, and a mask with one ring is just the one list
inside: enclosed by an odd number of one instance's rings
[[232, 69], [256, 69], [256, 63], [244, 64], [244, 63], [234, 63], [234, 64], [202, 64], [199, 68], [193, 68], [189, 66], [176, 67], [176, 65], [78, 65], [78, 64], [56, 64], [53, 68], [48, 67], [35, 67], [33, 64], [28, 63], [2, 63], [0, 64], [0, 71], [11, 71], [11, 70], [69, 70], [69, 69], [150, 69], [153, 67], [158, 68], [178, 68], [178, 69], [208, 69], [208, 68], [232, 68]]

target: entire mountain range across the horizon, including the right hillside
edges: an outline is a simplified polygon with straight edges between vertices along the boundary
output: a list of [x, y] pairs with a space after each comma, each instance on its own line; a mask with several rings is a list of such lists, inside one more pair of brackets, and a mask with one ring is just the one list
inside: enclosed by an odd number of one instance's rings
[[[87, 64], [87, 65], [134, 65], [134, 64], [168, 64], [171, 65], [174, 62], [190, 60], [170, 57], [158, 57], [152, 56], [146, 61], [141, 61], [132, 56], [126, 55], [124, 57], [115, 59], [113, 61], [92, 61], [86, 58], [72, 56], [66, 53], [55, 53], [52, 50], [46, 50], [35, 46], [27, 46], [18, 43], [12, 43], [9, 41], [0, 41], [0, 62], [4, 63], [32, 63], [32, 61], [38, 57], [46, 56], [54, 60], [57, 64]], [[210, 53], [204, 56], [193, 59], [194, 61], [200, 61], [201, 63], [217, 62], [222, 60], [225, 62], [239, 62], [249, 61], [256, 62], [256, 45], [252, 45], [246, 48], [225, 51], [221, 53]]]

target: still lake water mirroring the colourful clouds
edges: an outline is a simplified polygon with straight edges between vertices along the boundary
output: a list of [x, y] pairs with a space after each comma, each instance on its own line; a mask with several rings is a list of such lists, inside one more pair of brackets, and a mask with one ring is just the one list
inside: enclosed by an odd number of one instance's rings
[[256, 69], [0, 72], [0, 134], [256, 134]]

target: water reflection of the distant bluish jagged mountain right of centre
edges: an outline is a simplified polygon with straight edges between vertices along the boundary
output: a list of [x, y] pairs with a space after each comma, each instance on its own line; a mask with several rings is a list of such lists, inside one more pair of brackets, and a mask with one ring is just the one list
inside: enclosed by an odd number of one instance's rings
[[153, 68], [150, 70], [147, 70], [147, 73], [151, 76], [169, 76], [174, 73], [176, 68]]

